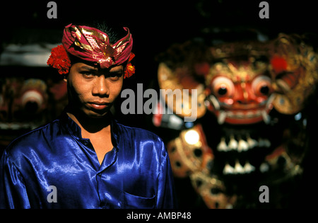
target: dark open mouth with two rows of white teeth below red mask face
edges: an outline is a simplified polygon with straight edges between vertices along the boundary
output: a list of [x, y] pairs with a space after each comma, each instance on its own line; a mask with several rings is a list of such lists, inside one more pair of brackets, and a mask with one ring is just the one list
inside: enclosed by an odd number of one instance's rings
[[215, 156], [211, 173], [228, 179], [269, 173], [271, 165], [266, 156], [281, 144], [282, 137], [279, 126], [264, 122], [244, 126], [225, 124], [211, 134], [213, 138], [207, 137]]

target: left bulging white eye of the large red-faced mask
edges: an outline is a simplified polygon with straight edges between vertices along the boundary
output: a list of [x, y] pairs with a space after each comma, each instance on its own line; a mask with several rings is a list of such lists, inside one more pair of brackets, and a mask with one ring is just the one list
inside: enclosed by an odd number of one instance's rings
[[211, 84], [213, 94], [218, 97], [230, 97], [234, 93], [233, 82], [225, 76], [217, 76]]

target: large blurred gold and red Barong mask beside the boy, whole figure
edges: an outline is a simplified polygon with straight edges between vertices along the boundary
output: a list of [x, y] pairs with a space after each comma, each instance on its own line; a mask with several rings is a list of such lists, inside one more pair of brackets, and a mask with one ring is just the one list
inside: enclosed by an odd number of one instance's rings
[[[176, 179], [189, 177], [209, 208], [259, 205], [258, 197], [249, 200], [250, 191], [259, 185], [271, 185], [273, 197], [288, 199], [290, 191], [275, 189], [274, 195], [273, 188], [295, 183], [302, 173], [310, 118], [306, 108], [316, 103], [312, 97], [318, 83], [313, 47], [298, 35], [280, 34], [268, 42], [213, 47], [186, 42], [171, 47], [162, 58], [160, 88], [190, 89], [189, 98], [198, 108], [196, 122], [185, 123], [179, 137], [167, 139]], [[154, 125], [175, 127], [176, 116], [185, 116], [176, 113], [178, 107], [187, 108], [182, 98], [173, 102], [166, 100], [165, 106], [175, 116]]]

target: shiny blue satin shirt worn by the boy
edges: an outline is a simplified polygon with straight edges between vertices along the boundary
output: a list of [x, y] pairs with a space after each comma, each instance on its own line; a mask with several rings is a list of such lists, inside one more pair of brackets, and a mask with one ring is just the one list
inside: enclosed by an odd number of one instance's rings
[[66, 113], [14, 140], [0, 161], [0, 207], [175, 208], [162, 140], [114, 119], [111, 131], [102, 164]]

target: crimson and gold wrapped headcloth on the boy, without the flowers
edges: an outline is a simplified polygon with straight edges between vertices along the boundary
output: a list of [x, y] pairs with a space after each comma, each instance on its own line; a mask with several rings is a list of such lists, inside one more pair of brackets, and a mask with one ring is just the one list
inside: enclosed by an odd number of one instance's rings
[[129, 28], [124, 38], [113, 45], [106, 33], [85, 25], [66, 25], [63, 32], [62, 44], [71, 55], [90, 62], [100, 64], [102, 69], [118, 65], [129, 59], [133, 39]]

